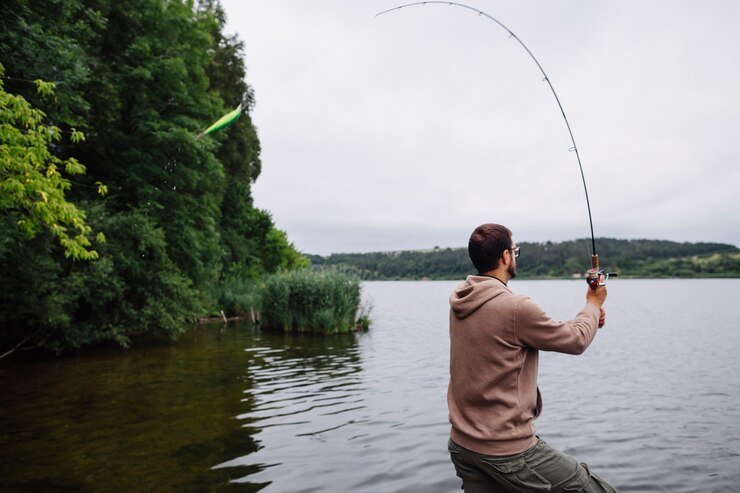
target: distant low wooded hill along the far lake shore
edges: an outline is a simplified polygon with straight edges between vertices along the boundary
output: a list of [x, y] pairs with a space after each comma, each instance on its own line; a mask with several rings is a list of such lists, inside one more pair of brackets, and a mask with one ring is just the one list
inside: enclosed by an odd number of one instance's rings
[[[590, 240], [522, 242], [517, 277], [557, 279], [583, 275], [591, 266]], [[597, 239], [602, 268], [621, 277], [740, 277], [740, 250], [723, 243]], [[475, 268], [467, 248], [308, 255], [314, 267], [335, 267], [362, 279], [462, 279]]]

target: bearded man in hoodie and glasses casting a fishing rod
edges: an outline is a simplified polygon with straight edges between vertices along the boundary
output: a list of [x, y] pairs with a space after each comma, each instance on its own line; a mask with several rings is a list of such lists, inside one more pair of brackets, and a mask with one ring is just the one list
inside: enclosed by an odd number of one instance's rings
[[542, 410], [538, 351], [580, 354], [604, 325], [606, 287], [587, 287], [586, 306], [558, 322], [507, 283], [519, 248], [499, 224], [476, 228], [468, 253], [478, 274], [450, 296], [449, 450], [470, 493], [616, 492], [586, 464], [535, 434]]

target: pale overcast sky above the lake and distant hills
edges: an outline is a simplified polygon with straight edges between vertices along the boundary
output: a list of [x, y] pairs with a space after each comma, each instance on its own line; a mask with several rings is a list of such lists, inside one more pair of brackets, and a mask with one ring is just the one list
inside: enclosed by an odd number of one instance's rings
[[[306, 253], [589, 235], [557, 102], [523, 48], [449, 5], [222, 0], [245, 43], [258, 207]], [[549, 76], [597, 237], [740, 245], [740, 2], [468, 0]], [[597, 245], [598, 246], [598, 245]]]

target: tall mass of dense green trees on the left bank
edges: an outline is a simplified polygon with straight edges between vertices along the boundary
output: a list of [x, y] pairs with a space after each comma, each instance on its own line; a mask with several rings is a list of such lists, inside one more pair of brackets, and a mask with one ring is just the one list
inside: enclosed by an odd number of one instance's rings
[[[6, 4], [0, 346], [176, 337], [307, 264], [252, 203], [254, 95], [217, 1]], [[196, 140], [239, 103], [239, 120]]]

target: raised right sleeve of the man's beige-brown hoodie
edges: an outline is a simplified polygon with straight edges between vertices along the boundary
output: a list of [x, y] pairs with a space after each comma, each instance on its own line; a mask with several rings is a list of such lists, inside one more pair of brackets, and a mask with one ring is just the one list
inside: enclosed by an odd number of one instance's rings
[[596, 305], [586, 304], [575, 319], [558, 322], [531, 299], [522, 297], [516, 304], [514, 336], [523, 346], [534, 349], [581, 354], [596, 336], [599, 315]]

